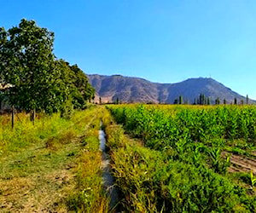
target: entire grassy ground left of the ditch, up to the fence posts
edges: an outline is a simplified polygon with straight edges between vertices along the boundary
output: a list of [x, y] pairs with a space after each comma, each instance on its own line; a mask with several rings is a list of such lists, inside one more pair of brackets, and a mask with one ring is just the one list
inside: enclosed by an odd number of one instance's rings
[[3, 212], [107, 212], [98, 151], [99, 108], [0, 123], [0, 208]]

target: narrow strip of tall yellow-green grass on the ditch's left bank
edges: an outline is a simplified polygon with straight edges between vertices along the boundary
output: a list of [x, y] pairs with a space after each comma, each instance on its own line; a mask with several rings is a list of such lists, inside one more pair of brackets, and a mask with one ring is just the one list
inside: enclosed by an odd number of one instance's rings
[[98, 141], [101, 115], [95, 115], [83, 137], [85, 146], [79, 157], [76, 189], [67, 199], [69, 210], [75, 212], [108, 212], [109, 200], [102, 186], [102, 153]]

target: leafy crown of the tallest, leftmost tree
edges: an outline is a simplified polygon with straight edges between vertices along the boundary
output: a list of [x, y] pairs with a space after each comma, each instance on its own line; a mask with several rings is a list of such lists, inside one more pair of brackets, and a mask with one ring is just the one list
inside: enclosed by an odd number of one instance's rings
[[0, 30], [0, 77], [11, 83], [7, 93], [11, 105], [30, 111], [53, 111], [55, 83], [54, 33], [36, 25], [34, 20], [21, 20], [7, 32]]

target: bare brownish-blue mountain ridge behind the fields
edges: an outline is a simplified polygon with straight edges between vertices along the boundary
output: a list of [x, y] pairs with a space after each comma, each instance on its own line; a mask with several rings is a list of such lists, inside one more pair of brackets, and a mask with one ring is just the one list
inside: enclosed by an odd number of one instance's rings
[[[237, 103], [246, 97], [239, 95], [222, 83], [212, 78], [189, 78], [180, 83], [152, 83], [143, 78], [124, 77], [121, 75], [88, 75], [91, 85], [96, 89], [96, 102], [113, 102], [117, 98], [122, 102], [173, 103], [180, 95], [183, 101], [193, 104], [201, 94], [211, 103], [219, 99], [221, 103]], [[253, 101], [250, 100], [250, 103]]]

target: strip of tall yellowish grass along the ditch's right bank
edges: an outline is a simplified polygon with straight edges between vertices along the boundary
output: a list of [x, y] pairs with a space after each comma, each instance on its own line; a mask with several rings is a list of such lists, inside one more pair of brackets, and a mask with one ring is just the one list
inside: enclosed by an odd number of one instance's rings
[[[113, 123], [109, 112], [104, 113], [103, 124], [113, 176], [120, 191], [118, 208], [125, 212], [157, 212], [152, 173], [160, 162], [160, 153], [149, 151], [139, 142], [129, 139], [124, 130]], [[144, 187], [147, 184], [148, 187]]]

